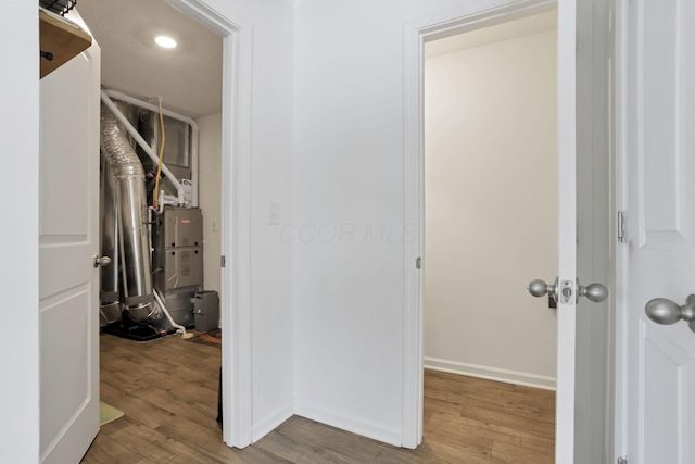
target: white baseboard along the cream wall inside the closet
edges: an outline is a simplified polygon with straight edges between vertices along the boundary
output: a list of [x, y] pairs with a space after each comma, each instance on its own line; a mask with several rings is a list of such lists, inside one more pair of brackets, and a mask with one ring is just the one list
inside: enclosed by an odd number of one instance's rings
[[481, 366], [478, 364], [459, 363], [457, 361], [441, 360], [439, 358], [425, 356], [424, 361], [425, 368], [432, 371], [467, 375], [488, 380], [504, 381], [506, 384], [523, 385], [526, 387], [542, 388], [543, 390], [555, 390], [557, 388], [557, 378], [555, 377]]

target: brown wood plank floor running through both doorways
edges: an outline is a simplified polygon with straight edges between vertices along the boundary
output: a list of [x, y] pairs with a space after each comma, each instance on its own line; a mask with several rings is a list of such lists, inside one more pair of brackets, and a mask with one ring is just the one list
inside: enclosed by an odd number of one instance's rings
[[229, 449], [215, 422], [219, 348], [176, 336], [100, 342], [101, 399], [125, 416], [101, 428], [86, 464], [553, 462], [554, 392], [433, 371], [425, 374], [425, 440], [416, 450], [299, 416]]

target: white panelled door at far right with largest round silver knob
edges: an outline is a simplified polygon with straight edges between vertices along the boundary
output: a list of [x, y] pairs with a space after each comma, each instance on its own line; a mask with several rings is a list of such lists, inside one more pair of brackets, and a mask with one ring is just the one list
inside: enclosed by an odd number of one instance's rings
[[[695, 4], [639, 0], [626, 12], [627, 457], [692, 464], [695, 333], [654, 323], [645, 304], [683, 305], [695, 293]], [[681, 311], [660, 309], [666, 318]]]

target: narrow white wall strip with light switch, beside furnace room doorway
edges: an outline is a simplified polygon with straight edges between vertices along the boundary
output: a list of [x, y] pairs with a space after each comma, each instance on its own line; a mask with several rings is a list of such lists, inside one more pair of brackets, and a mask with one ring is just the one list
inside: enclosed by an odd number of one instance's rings
[[279, 226], [268, 225], [270, 201], [280, 202], [281, 220], [292, 214], [293, 2], [205, 3], [253, 28], [251, 356], [257, 439], [293, 413], [292, 248], [279, 239]]

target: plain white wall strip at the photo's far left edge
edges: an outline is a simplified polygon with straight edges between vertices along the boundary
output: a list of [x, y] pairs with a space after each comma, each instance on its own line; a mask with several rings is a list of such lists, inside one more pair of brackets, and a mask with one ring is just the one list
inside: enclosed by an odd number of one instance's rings
[[7, 65], [0, 86], [2, 155], [0, 208], [7, 247], [0, 260], [0, 462], [38, 461], [39, 454], [39, 49], [36, 3], [5, 0], [12, 21], [0, 28]]

